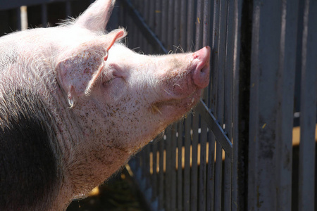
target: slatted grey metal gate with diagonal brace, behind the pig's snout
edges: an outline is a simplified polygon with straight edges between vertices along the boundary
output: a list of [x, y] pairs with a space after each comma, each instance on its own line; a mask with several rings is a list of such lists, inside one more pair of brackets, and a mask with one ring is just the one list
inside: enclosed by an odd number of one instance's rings
[[129, 162], [151, 209], [243, 210], [237, 195], [242, 1], [121, 1], [120, 8], [132, 49], [213, 49], [211, 84], [198, 106]]

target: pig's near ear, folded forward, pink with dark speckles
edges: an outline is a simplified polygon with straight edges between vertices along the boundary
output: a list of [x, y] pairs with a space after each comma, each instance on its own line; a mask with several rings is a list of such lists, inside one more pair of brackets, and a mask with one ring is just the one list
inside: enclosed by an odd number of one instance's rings
[[123, 29], [113, 30], [74, 49], [63, 51], [58, 56], [56, 75], [68, 96], [70, 107], [73, 107], [77, 98], [89, 95], [104, 70], [108, 50], [125, 34]]

